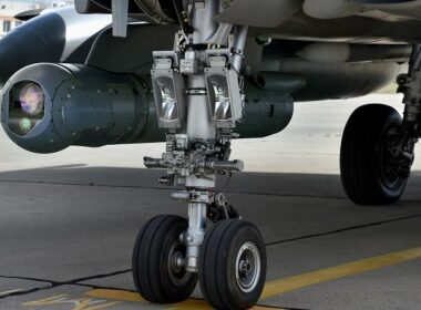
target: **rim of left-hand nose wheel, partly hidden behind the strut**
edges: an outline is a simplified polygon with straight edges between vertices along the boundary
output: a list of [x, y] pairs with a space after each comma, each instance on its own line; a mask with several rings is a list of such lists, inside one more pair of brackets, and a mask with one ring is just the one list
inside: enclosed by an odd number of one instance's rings
[[185, 271], [184, 268], [184, 257], [185, 247], [179, 242], [179, 240], [174, 240], [170, 248], [168, 254], [168, 276], [171, 281], [176, 287], [184, 287], [191, 280], [192, 273]]

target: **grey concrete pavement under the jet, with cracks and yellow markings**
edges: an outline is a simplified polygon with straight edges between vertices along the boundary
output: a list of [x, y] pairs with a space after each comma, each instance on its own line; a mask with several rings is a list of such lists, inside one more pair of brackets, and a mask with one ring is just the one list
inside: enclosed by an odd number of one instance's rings
[[[261, 230], [268, 275], [256, 309], [420, 309], [421, 165], [399, 204], [360, 207], [338, 153], [351, 111], [399, 96], [298, 103], [290, 127], [237, 141], [227, 197]], [[419, 147], [418, 147], [419, 149]], [[33, 155], [0, 135], [0, 309], [206, 309], [199, 289], [156, 306], [133, 290], [131, 252], [157, 214], [185, 215], [142, 165], [162, 144]], [[419, 153], [419, 152], [418, 152]], [[220, 187], [227, 183], [219, 179]]]

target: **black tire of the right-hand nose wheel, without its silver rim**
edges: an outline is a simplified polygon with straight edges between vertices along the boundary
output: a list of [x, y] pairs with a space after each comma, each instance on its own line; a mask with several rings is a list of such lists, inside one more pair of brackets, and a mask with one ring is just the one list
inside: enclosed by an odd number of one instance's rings
[[[236, 259], [245, 242], [257, 246], [260, 273], [253, 291], [245, 293], [236, 280]], [[201, 248], [199, 282], [205, 299], [216, 309], [248, 309], [259, 299], [266, 280], [266, 248], [259, 230], [239, 219], [219, 221]]]

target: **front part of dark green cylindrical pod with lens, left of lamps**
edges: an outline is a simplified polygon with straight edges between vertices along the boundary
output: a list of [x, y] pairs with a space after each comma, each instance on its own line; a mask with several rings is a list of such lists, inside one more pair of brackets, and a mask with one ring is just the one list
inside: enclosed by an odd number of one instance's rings
[[8, 81], [1, 96], [6, 133], [35, 153], [147, 141], [144, 128], [155, 121], [141, 80], [84, 65], [27, 66]]

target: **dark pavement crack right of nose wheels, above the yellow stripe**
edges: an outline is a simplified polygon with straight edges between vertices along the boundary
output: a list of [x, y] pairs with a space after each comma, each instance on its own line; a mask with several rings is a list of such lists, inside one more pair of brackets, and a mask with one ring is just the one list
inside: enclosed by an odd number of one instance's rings
[[340, 228], [340, 229], [336, 229], [336, 230], [330, 230], [330, 231], [325, 231], [325, 232], [318, 232], [318, 234], [310, 234], [310, 235], [305, 235], [305, 236], [300, 236], [300, 237], [294, 237], [294, 238], [289, 238], [289, 239], [267, 242], [267, 244], [265, 244], [265, 246], [270, 247], [270, 246], [276, 246], [276, 245], [281, 245], [281, 244], [289, 244], [289, 242], [294, 242], [294, 241], [311, 239], [311, 238], [317, 238], [317, 237], [325, 237], [325, 236], [330, 236], [330, 235], [336, 235], [336, 234], [342, 234], [342, 232], [347, 232], [347, 231], [351, 231], [351, 230], [376, 227], [376, 226], [387, 225], [390, 223], [402, 221], [402, 220], [414, 219], [414, 218], [421, 218], [421, 214], [403, 216], [403, 217], [398, 217], [398, 218], [391, 218], [391, 219], [381, 220], [381, 221], [355, 225], [355, 226]]

